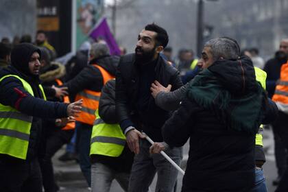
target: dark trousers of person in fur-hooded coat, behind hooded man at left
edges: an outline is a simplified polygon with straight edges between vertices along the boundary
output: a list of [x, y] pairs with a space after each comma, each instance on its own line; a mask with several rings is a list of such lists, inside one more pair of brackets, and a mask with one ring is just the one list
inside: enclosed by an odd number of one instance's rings
[[73, 130], [59, 130], [51, 133], [47, 137], [45, 156], [43, 159], [39, 160], [45, 192], [58, 191], [58, 185], [55, 182], [51, 158], [62, 147], [62, 145], [70, 141], [72, 136]]

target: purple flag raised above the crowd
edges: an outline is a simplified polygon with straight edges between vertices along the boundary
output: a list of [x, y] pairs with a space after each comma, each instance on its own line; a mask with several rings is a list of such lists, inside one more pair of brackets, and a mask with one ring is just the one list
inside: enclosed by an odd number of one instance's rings
[[110, 49], [110, 53], [111, 55], [120, 55], [120, 49], [116, 43], [115, 38], [113, 37], [113, 35], [110, 32], [108, 23], [106, 21], [106, 18], [102, 19], [96, 26], [94, 29], [92, 29], [90, 35], [91, 38], [93, 39], [97, 39], [97, 38], [103, 38], [109, 49]]

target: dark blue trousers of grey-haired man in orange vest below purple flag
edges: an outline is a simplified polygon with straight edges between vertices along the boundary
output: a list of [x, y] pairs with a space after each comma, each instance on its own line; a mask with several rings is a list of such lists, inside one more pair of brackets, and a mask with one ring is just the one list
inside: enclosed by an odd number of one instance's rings
[[79, 164], [88, 187], [91, 187], [91, 162], [89, 156], [91, 134], [92, 125], [77, 123], [77, 152], [79, 154]]

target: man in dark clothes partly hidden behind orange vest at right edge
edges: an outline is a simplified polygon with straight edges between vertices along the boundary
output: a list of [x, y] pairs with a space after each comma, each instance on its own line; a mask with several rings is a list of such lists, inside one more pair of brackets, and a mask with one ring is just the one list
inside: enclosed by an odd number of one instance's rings
[[[276, 51], [274, 58], [268, 60], [265, 64], [264, 71], [267, 73], [267, 91], [268, 97], [272, 98], [276, 88], [276, 82], [280, 79], [280, 69], [283, 64], [287, 62], [288, 58], [288, 39], [283, 39], [280, 42], [279, 50]], [[280, 136], [276, 132], [274, 126], [272, 126], [275, 142], [275, 159], [278, 176], [273, 181], [274, 185], [277, 185], [280, 181], [286, 169], [287, 152], [285, 150], [283, 142], [280, 141]]]

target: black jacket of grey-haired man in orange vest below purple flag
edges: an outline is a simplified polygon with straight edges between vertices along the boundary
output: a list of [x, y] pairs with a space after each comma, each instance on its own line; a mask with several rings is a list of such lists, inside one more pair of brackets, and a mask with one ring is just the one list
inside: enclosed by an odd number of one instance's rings
[[69, 94], [76, 94], [84, 89], [101, 91], [104, 85], [101, 71], [91, 64], [97, 64], [111, 75], [115, 75], [118, 62], [119, 58], [117, 56], [102, 56], [101, 58], [91, 60], [88, 66], [84, 67], [76, 77], [66, 82], [63, 86], [68, 87]]

